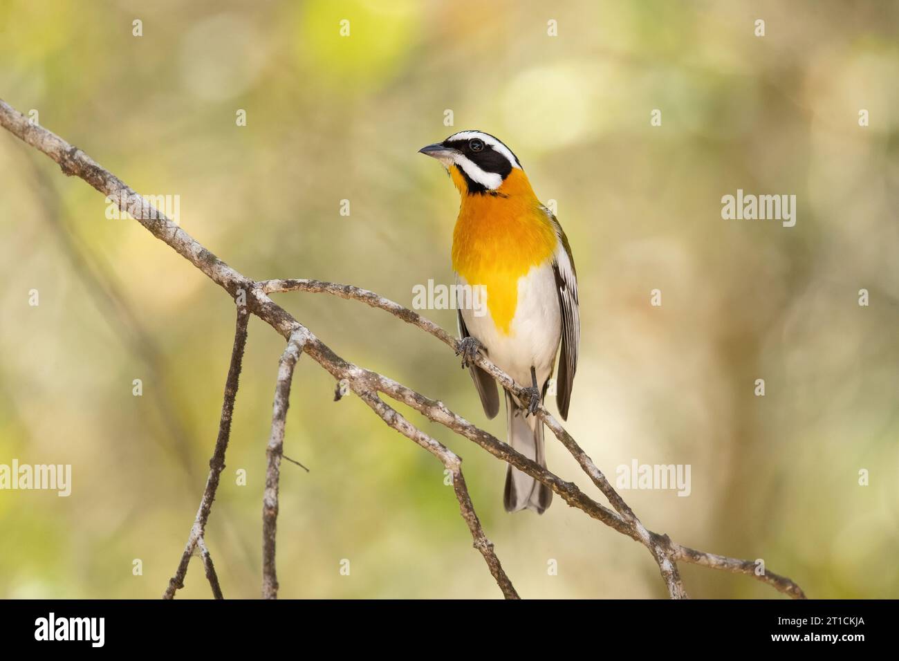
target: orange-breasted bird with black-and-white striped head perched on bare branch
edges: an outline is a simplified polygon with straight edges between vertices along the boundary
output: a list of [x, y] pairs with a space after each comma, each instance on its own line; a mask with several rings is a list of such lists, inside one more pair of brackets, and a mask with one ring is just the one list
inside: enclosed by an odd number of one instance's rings
[[[561, 342], [556, 405], [567, 419], [581, 335], [568, 239], [537, 199], [518, 158], [489, 133], [460, 131], [419, 151], [447, 168], [461, 196], [452, 245], [457, 282], [485, 290], [485, 313], [458, 310], [462, 365], [470, 368], [490, 418], [499, 411], [499, 397], [493, 378], [471, 363], [478, 350], [516, 383], [530, 384], [530, 402], [505, 392], [508, 439], [546, 467], [543, 423], [532, 414], [546, 397]], [[552, 496], [546, 485], [508, 467], [507, 512], [543, 514]]]

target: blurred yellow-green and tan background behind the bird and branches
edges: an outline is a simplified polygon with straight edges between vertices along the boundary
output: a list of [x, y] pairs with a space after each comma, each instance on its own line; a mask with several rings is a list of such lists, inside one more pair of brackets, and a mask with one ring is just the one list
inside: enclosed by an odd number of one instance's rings
[[[873, 0], [2, 0], [0, 98], [139, 192], [180, 195], [182, 227], [239, 271], [350, 282], [407, 305], [415, 284], [451, 281], [458, 208], [416, 150], [494, 133], [556, 200], [574, 249], [583, 347], [568, 428], [610, 476], [633, 459], [691, 466], [689, 497], [623, 492], [644, 523], [763, 558], [810, 596], [896, 597], [897, 26], [899, 6]], [[2, 131], [0, 173], [0, 463], [74, 473], [68, 498], [0, 492], [0, 595], [158, 597], [215, 442], [232, 303]], [[738, 188], [797, 195], [796, 227], [721, 219]], [[431, 337], [352, 301], [278, 300], [346, 358], [504, 438], [503, 415], [485, 420]], [[455, 327], [453, 311], [427, 314]], [[228, 597], [260, 594], [282, 346], [251, 321], [207, 531]], [[285, 451], [311, 472], [282, 472], [281, 596], [499, 597], [441, 465], [333, 390], [299, 363]], [[523, 596], [665, 596], [645, 549], [560, 499], [542, 517], [505, 514], [504, 467], [409, 415], [463, 456]], [[599, 497], [554, 440], [547, 455]], [[781, 596], [681, 567], [693, 596]], [[209, 595], [196, 558], [179, 594]]]

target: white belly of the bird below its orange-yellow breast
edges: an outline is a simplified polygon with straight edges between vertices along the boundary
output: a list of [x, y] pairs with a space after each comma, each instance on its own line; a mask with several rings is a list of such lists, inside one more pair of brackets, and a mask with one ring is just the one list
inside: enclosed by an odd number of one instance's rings
[[[457, 275], [459, 284], [467, 284]], [[556, 290], [556, 277], [550, 264], [533, 266], [518, 281], [518, 306], [504, 334], [490, 314], [490, 292], [486, 312], [477, 317], [475, 310], [463, 309], [462, 318], [469, 335], [484, 344], [487, 355], [521, 386], [530, 386], [530, 368], [537, 371], [539, 387], [552, 376], [556, 351], [562, 333], [562, 317]]]

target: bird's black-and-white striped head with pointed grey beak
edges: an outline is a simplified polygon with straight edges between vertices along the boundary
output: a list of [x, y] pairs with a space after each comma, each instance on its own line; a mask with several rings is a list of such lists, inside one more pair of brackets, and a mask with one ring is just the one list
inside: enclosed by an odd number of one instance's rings
[[419, 152], [436, 158], [447, 168], [463, 200], [467, 195], [506, 197], [531, 192], [518, 157], [489, 133], [459, 131], [443, 142], [422, 147]]

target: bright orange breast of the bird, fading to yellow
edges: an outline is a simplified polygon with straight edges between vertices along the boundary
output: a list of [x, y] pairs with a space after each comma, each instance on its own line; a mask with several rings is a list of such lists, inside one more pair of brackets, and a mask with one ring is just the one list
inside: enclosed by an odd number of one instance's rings
[[462, 192], [453, 231], [453, 269], [468, 284], [485, 286], [494, 323], [508, 335], [518, 306], [518, 280], [550, 258], [556, 232], [520, 169], [506, 177], [497, 191], [501, 195], [467, 195], [456, 167], [450, 175]]

